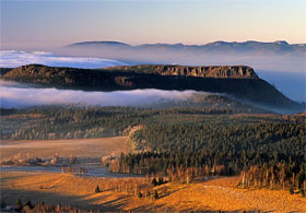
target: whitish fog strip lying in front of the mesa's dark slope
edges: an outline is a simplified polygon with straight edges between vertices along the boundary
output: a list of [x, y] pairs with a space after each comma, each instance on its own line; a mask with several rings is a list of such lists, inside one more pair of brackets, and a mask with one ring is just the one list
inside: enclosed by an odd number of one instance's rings
[[98, 106], [145, 106], [160, 100], [184, 99], [195, 91], [133, 90], [116, 92], [84, 92], [27, 87], [26, 84], [0, 81], [1, 107], [82, 104]]

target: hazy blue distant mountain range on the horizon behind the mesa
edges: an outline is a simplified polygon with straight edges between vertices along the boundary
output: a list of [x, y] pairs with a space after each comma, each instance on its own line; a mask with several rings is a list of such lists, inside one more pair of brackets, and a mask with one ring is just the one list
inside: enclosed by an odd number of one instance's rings
[[261, 43], [247, 40], [214, 42], [205, 45], [142, 44], [120, 42], [74, 43], [58, 50], [59, 55], [96, 57], [122, 61], [128, 64], [227, 66], [245, 64], [256, 70], [303, 72], [305, 44], [285, 40]]

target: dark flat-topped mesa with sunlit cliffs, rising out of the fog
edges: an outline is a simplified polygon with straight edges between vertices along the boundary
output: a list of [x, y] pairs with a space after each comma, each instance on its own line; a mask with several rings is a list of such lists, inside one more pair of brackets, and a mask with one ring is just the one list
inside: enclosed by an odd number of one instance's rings
[[85, 91], [195, 90], [226, 93], [236, 98], [271, 107], [302, 107], [259, 79], [251, 68], [245, 66], [133, 66], [92, 70], [28, 64], [12, 69], [2, 78]]

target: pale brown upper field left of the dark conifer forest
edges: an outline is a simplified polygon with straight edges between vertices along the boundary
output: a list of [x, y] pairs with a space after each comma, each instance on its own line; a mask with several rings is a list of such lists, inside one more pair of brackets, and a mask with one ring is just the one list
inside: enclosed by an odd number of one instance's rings
[[11, 158], [21, 153], [23, 155], [48, 158], [58, 153], [61, 157], [74, 155], [78, 157], [119, 156], [129, 151], [127, 137], [71, 140], [27, 140], [1, 141], [0, 159]]

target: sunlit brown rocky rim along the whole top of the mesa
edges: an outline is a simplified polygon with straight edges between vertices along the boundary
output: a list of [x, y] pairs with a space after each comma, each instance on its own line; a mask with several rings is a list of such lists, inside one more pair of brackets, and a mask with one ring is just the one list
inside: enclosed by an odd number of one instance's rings
[[[66, 76], [71, 71], [82, 71], [74, 68], [52, 68], [40, 64], [28, 64], [12, 69], [5, 73], [7, 78], [58, 78]], [[94, 71], [94, 70], [92, 70]], [[258, 79], [250, 67], [246, 66], [210, 66], [210, 67], [187, 67], [187, 66], [122, 66], [101, 69], [99, 71], [125, 71], [143, 74], [160, 74], [169, 76], [193, 76], [193, 78], [220, 78], [220, 79]], [[67, 83], [69, 83], [68, 81]]]

